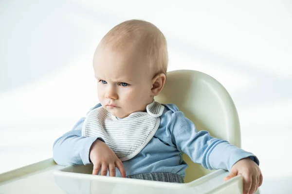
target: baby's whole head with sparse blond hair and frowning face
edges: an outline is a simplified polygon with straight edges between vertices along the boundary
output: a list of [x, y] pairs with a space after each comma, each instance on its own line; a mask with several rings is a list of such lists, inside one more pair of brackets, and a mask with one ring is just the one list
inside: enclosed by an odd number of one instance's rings
[[118, 24], [93, 57], [100, 103], [119, 118], [145, 111], [164, 87], [167, 64], [166, 40], [156, 26], [142, 20]]

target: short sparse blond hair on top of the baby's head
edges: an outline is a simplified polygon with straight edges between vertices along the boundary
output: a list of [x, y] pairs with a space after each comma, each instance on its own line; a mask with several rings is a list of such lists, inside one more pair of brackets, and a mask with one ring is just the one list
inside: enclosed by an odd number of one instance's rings
[[166, 75], [168, 65], [167, 43], [164, 34], [152, 23], [143, 20], [128, 20], [113, 27], [100, 44], [114, 49], [123, 49], [135, 44], [143, 49], [154, 76]]

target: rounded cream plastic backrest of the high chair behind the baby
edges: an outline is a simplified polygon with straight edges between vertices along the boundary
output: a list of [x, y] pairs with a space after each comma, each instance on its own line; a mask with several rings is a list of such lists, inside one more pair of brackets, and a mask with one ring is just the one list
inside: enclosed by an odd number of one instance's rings
[[[211, 136], [240, 147], [240, 125], [234, 102], [211, 76], [193, 70], [168, 72], [164, 89], [155, 100], [175, 104], [198, 130], [208, 130]], [[185, 182], [212, 172], [192, 162], [186, 154], [183, 159], [188, 164]]]

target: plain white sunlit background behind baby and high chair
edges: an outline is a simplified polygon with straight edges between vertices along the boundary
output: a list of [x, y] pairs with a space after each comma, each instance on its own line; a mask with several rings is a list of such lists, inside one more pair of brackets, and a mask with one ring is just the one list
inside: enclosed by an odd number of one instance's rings
[[97, 101], [102, 36], [127, 19], [164, 32], [169, 68], [221, 82], [256, 154], [263, 194], [292, 190], [292, 1], [0, 0], [0, 173], [52, 157]]

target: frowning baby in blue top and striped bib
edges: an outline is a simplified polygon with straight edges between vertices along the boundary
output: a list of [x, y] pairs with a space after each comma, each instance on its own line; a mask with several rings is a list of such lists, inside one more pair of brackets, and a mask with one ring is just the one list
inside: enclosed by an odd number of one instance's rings
[[255, 155], [198, 131], [174, 104], [154, 101], [167, 64], [165, 37], [153, 24], [112, 28], [93, 57], [100, 104], [55, 141], [55, 162], [92, 163], [93, 175], [183, 183], [186, 153], [205, 168], [229, 170], [225, 180], [241, 174], [244, 193], [254, 193], [262, 184]]

